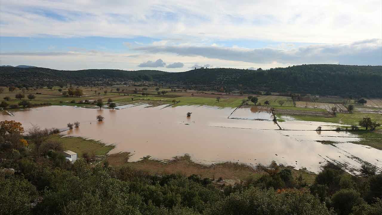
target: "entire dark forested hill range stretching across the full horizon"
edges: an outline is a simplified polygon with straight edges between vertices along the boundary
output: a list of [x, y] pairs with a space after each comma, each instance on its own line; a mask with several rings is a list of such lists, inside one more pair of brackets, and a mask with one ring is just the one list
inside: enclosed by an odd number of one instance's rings
[[77, 70], [0, 68], [0, 85], [55, 85], [58, 82], [92, 84], [94, 81], [154, 80], [173, 85], [204, 85], [212, 89], [262, 90], [320, 95], [382, 97], [382, 66], [331, 64], [298, 65], [269, 70], [201, 68], [169, 73], [158, 70]]

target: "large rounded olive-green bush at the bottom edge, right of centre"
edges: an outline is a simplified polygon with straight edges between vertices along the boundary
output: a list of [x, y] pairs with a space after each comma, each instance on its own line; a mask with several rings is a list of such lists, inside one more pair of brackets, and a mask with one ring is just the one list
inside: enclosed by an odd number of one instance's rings
[[261, 190], [251, 187], [213, 203], [205, 214], [329, 215], [330, 212], [317, 197], [308, 192], [296, 189], [275, 192], [273, 189]]

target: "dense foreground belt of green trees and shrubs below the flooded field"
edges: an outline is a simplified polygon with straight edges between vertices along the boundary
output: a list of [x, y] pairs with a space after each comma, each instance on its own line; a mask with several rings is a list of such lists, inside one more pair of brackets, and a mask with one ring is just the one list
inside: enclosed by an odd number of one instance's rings
[[[0, 122], [0, 214], [380, 215], [382, 173], [359, 176], [328, 163], [313, 184], [272, 162], [234, 186], [197, 175], [149, 174], [84, 156], [73, 164], [57, 129]], [[21, 135], [25, 134], [25, 135]], [[222, 181], [219, 178], [217, 181]]]

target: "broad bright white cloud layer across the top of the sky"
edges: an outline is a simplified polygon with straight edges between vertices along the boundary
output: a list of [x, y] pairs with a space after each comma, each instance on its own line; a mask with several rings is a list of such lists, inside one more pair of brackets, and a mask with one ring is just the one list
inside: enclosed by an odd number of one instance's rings
[[2, 36], [175, 36], [338, 43], [378, 38], [382, 24], [380, 0], [227, 0], [218, 4], [202, 0], [181, 4], [176, 0], [33, 0], [1, 4]]

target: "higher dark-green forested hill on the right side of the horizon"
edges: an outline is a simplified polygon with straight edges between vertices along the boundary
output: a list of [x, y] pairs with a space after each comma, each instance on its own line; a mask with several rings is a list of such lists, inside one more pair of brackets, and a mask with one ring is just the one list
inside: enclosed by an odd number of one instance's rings
[[382, 66], [310, 64], [269, 70], [207, 68], [175, 73], [164, 81], [204, 84], [224, 90], [382, 97]]

